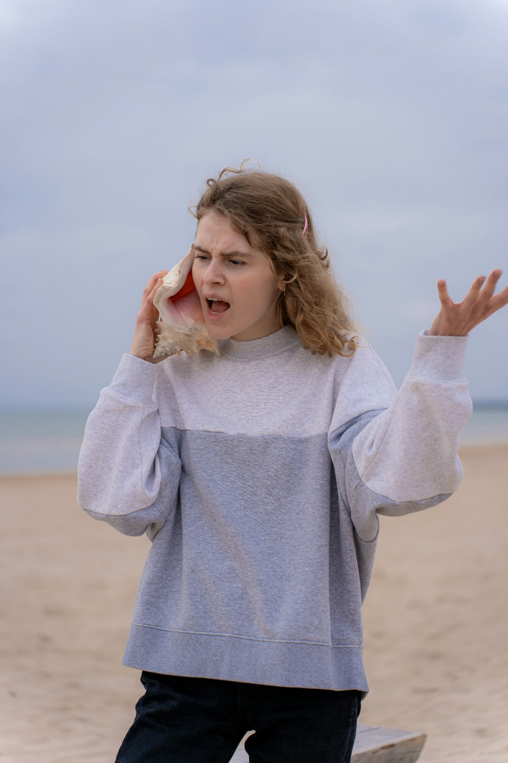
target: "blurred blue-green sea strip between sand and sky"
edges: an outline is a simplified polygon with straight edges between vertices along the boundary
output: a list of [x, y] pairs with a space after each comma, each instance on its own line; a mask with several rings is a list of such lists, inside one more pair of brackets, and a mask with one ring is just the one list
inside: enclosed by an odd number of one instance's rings
[[[0, 410], [0, 475], [75, 472], [90, 409]], [[474, 401], [461, 445], [508, 443], [508, 400]]]

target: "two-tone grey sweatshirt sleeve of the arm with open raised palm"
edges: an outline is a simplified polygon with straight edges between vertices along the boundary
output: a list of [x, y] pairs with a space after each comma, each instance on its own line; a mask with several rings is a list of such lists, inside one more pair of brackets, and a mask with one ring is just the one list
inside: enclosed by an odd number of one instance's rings
[[328, 447], [359, 539], [375, 539], [376, 514], [398, 516], [445, 501], [464, 476], [457, 456], [471, 417], [463, 373], [466, 336], [417, 339], [399, 391], [369, 346], [351, 359]]

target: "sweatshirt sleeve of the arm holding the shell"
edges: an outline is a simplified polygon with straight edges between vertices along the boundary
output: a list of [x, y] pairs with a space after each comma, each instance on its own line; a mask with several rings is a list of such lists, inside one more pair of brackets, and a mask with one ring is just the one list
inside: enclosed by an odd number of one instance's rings
[[78, 459], [78, 504], [125, 535], [153, 539], [174, 512], [181, 462], [161, 439], [153, 398], [158, 365], [124, 353], [88, 417]]

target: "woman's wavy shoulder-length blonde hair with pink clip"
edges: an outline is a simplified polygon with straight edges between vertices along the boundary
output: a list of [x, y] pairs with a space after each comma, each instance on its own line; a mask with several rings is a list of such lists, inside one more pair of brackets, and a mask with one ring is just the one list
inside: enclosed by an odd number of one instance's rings
[[318, 243], [305, 199], [279, 175], [245, 169], [248, 161], [209, 178], [190, 213], [197, 221], [208, 211], [225, 215], [254, 249], [270, 257], [273, 274], [286, 284], [277, 303], [280, 324], [294, 327], [307, 349], [352, 355], [358, 337], [350, 302], [331, 272], [326, 246]]

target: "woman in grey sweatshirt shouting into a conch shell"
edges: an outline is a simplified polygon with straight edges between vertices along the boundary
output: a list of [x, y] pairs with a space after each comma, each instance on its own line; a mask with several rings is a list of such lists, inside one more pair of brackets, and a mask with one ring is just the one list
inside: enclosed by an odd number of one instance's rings
[[500, 271], [441, 310], [397, 392], [354, 334], [302, 195], [224, 170], [196, 207], [193, 283], [220, 355], [153, 358], [150, 278], [133, 345], [81, 448], [78, 503], [152, 539], [124, 664], [145, 694], [117, 756], [349, 761], [378, 514], [444, 501], [471, 415], [466, 335]]

